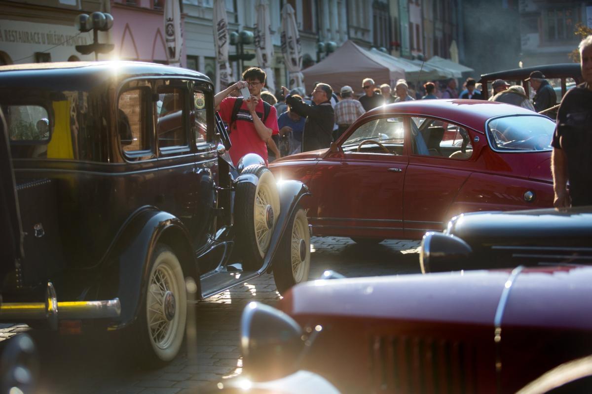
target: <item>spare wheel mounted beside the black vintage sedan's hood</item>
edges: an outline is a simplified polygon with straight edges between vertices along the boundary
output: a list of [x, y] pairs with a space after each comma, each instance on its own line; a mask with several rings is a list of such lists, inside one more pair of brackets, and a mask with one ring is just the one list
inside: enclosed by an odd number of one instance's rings
[[255, 186], [250, 182], [239, 183], [234, 196], [234, 226], [236, 247], [245, 271], [256, 271], [263, 265], [263, 257], [269, 249], [276, 218], [279, 216], [279, 194], [275, 178], [263, 165], [250, 165], [243, 174], [255, 174], [259, 178]]

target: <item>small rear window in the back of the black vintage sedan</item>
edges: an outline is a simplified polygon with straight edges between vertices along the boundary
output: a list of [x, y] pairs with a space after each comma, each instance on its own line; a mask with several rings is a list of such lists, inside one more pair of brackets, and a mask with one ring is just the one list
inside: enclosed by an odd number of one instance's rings
[[3, 108], [11, 141], [49, 141], [47, 110], [38, 105], [8, 105]]

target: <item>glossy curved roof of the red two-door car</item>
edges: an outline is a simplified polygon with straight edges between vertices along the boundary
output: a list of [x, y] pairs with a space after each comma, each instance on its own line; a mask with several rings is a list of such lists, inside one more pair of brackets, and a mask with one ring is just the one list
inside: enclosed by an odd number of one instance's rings
[[459, 123], [481, 132], [485, 129], [485, 122], [497, 116], [542, 116], [515, 105], [466, 99], [412, 100], [392, 103], [369, 110], [363, 116], [366, 118], [385, 112], [400, 115], [433, 116], [435, 118], [449, 120], [453, 123]]

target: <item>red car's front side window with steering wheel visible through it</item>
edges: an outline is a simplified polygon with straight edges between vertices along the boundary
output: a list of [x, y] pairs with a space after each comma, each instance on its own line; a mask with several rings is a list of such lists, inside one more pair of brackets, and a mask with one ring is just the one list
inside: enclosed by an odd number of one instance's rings
[[359, 126], [342, 148], [346, 152], [401, 155], [404, 134], [403, 118], [374, 119]]

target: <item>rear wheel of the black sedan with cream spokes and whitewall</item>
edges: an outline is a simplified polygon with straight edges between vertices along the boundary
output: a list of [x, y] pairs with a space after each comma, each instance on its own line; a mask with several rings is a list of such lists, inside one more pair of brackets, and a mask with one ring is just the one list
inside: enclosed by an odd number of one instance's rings
[[[149, 270], [138, 318], [128, 328], [123, 340], [128, 341], [124, 345], [133, 347], [131, 351], [136, 362], [153, 368], [173, 360], [181, 349], [187, 318], [187, 295], [181, 263], [168, 245], [156, 244]], [[173, 310], [166, 308], [166, 304], [174, 305]]]

